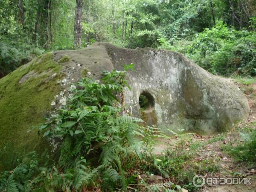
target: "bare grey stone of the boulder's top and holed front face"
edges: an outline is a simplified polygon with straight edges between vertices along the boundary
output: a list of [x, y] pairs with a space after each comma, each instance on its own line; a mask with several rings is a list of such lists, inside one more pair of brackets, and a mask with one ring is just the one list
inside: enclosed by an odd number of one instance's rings
[[[123, 70], [123, 64], [133, 63], [135, 70], [127, 75], [131, 90], [125, 89], [125, 111], [163, 131], [225, 131], [248, 116], [247, 99], [238, 87], [177, 52], [96, 43], [53, 53], [57, 62], [65, 55], [70, 60], [61, 63], [61, 73], [68, 73], [72, 82], [85, 76], [99, 79], [102, 70]], [[141, 93], [151, 104], [145, 111], [139, 105]]]

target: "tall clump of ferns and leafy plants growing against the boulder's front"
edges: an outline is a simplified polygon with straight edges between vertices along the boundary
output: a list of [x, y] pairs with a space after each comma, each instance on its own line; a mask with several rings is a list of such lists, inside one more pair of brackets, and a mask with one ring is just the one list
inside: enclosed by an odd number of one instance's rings
[[73, 177], [62, 186], [81, 191], [96, 175], [104, 190], [126, 189], [122, 162], [139, 158], [141, 142], [135, 136], [143, 120], [121, 115], [122, 101], [116, 98], [126, 86], [124, 78], [125, 71], [104, 71], [100, 82], [82, 79], [67, 107], [41, 126], [45, 137], [61, 140], [57, 169]]

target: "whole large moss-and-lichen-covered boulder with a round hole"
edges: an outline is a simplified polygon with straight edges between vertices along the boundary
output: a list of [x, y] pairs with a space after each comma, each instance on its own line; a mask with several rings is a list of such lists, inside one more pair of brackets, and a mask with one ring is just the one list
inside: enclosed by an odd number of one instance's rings
[[[102, 70], [135, 66], [127, 78], [125, 112], [163, 131], [213, 133], [246, 119], [247, 99], [233, 83], [213, 76], [177, 52], [123, 49], [96, 43], [85, 49], [48, 53], [0, 79], [0, 147], [32, 148], [33, 126], [65, 105], [70, 86], [83, 77], [99, 79]], [[140, 96], [147, 98], [140, 109]]]

